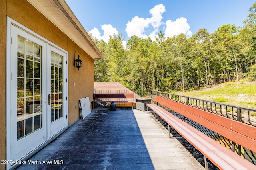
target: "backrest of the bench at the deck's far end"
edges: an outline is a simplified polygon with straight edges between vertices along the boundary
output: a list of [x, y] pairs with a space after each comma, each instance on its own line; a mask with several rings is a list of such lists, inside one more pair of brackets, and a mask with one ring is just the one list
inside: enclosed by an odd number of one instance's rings
[[134, 93], [95, 93], [94, 99], [119, 99], [119, 98], [134, 98]]

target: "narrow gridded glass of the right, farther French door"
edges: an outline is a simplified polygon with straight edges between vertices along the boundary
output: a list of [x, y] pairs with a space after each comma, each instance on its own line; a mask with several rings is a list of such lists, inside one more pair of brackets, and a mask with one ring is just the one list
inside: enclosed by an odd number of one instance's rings
[[51, 53], [51, 94], [52, 94], [52, 113], [51, 113], [51, 119], [52, 121], [55, 121], [56, 119], [59, 119], [63, 117], [63, 109], [62, 109], [62, 61], [63, 56], [59, 55], [57, 53], [54, 53], [52, 51]]

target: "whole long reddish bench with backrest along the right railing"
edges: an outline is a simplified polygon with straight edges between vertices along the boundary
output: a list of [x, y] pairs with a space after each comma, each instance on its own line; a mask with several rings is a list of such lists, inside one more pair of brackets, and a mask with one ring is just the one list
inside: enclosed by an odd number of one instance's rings
[[[219, 133], [220, 135], [230, 139], [231, 141], [241, 145], [253, 152], [256, 152], [256, 127], [246, 125], [244, 123], [215, 115], [207, 111], [191, 107], [185, 104], [175, 102], [160, 96], [155, 96], [154, 100], [158, 104], [172, 109], [184, 117], [191, 119], [208, 129]], [[190, 142], [196, 149], [198, 149], [205, 156], [205, 165], [208, 169], [208, 158], [220, 169], [226, 170], [253, 170], [256, 166], [238, 154], [232, 152], [228, 148], [217, 143], [204, 133], [198, 131], [188, 123], [182, 121], [178, 117], [172, 115], [165, 109], [156, 104], [146, 104], [155, 114], [160, 116], [166, 123], [174, 128], [180, 135], [182, 135], [188, 142]], [[155, 115], [156, 116], [156, 115]], [[156, 118], [155, 118], [156, 119]], [[169, 127], [170, 134], [170, 127]]]

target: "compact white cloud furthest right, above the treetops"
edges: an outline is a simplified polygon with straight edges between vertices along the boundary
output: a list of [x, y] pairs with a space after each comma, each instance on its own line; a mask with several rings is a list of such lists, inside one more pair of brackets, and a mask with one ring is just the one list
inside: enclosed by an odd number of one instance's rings
[[192, 32], [189, 30], [190, 26], [187, 23], [187, 19], [184, 17], [180, 17], [175, 21], [166, 21], [166, 26], [164, 29], [164, 34], [168, 37], [173, 37], [174, 35], [178, 35], [180, 33], [184, 33], [187, 37], [192, 36]]

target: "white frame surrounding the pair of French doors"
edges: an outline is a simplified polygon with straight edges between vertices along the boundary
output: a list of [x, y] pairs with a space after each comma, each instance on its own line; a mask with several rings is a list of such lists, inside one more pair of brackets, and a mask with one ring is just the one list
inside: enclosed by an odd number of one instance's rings
[[[17, 119], [17, 113], [15, 113], [15, 111], [12, 111], [12, 107], [16, 107], [16, 106], [12, 106], [12, 104], [11, 104], [11, 100], [12, 100], [11, 90], [13, 90], [15, 88], [14, 87], [15, 85], [14, 85], [14, 83], [12, 83], [12, 80], [11, 80], [11, 78], [12, 78], [11, 66], [14, 64], [11, 61], [11, 54], [12, 54], [11, 43], [12, 43], [12, 41], [15, 41], [15, 39], [17, 39], [17, 38], [12, 39], [12, 37], [11, 37], [11, 25], [18, 27], [22, 31], [25, 31], [26, 33], [39, 39], [40, 41], [44, 41], [44, 43], [46, 44], [45, 45], [46, 51], [48, 50], [47, 47], [49, 45], [51, 45], [52, 47], [65, 53], [65, 56], [63, 59], [63, 63], [65, 64], [65, 67], [66, 67], [65, 69], [63, 68], [63, 74], [65, 76], [64, 80], [63, 80], [63, 82], [65, 84], [64, 85], [65, 87], [63, 87], [63, 106], [64, 106], [63, 110], [66, 111], [65, 116], [64, 116], [64, 118], [65, 118], [64, 124], [65, 124], [65, 127], [68, 126], [68, 52], [65, 51], [64, 49], [58, 47], [54, 43], [48, 41], [44, 37], [38, 35], [34, 31], [28, 29], [24, 25], [13, 20], [12, 18], [7, 17], [7, 29], [6, 29], [7, 30], [7, 34], [6, 34], [7, 35], [7, 37], [6, 37], [6, 160], [13, 160], [12, 158], [16, 157], [16, 152], [14, 152], [15, 146], [12, 145], [12, 141], [14, 140], [13, 136], [16, 136], [16, 135], [11, 134], [11, 131], [13, 131], [11, 129], [11, 128], [13, 128], [12, 122], [14, 122], [14, 119], [15, 119], [15, 121]], [[42, 60], [43, 60], [43, 58], [42, 58]], [[46, 62], [49, 62], [49, 61], [46, 61]], [[45, 95], [46, 94], [42, 94], [42, 105], [44, 103], [48, 103], [48, 96], [45, 96]], [[46, 128], [48, 128], [47, 125], [46, 125]], [[62, 129], [60, 129], [59, 131], [61, 131], [61, 130]], [[58, 132], [56, 132], [56, 133], [58, 133]], [[50, 140], [51, 139], [50, 137], [52, 137], [53, 135], [54, 134], [51, 134], [50, 136], [47, 135], [46, 141]], [[17, 140], [17, 138], [16, 138], [16, 140]], [[46, 141], [44, 141], [44, 143]], [[40, 147], [40, 145], [38, 145], [36, 148], [38, 148], [38, 147]], [[32, 150], [30, 152], [32, 152]], [[29, 154], [29, 153], [27, 153], [27, 154]], [[22, 158], [24, 158], [26, 155], [22, 156], [19, 160], [22, 160]], [[6, 168], [10, 169], [11, 164], [7, 164]]]

